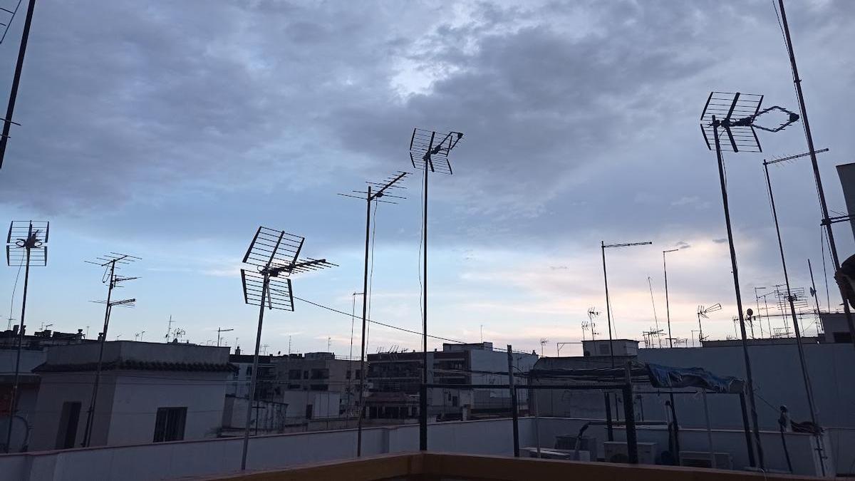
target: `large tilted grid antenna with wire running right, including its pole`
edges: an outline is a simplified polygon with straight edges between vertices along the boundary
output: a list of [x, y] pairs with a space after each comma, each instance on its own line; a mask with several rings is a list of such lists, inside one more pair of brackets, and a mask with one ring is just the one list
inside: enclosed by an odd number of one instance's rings
[[258, 351], [262, 343], [262, 322], [264, 308], [281, 311], [294, 310], [294, 296], [291, 289], [291, 275], [321, 270], [335, 264], [324, 258], [299, 258], [305, 239], [300, 235], [288, 234], [284, 230], [269, 229], [261, 226], [252, 238], [244, 255], [243, 263], [251, 269], [241, 269], [240, 279], [244, 287], [244, 301], [258, 306], [258, 330], [256, 333], [256, 351], [252, 357], [252, 375], [250, 393], [246, 402], [246, 423], [244, 426], [244, 447], [240, 459], [240, 470], [246, 470], [246, 453], [250, 442], [250, 424], [252, 419], [252, 400], [256, 396], [258, 377]]

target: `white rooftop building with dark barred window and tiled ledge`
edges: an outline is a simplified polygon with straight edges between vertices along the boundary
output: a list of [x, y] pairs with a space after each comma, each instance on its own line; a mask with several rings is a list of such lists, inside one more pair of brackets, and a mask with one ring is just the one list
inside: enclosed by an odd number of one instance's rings
[[[97, 343], [51, 347], [41, 376], [30, 448], [80, 446], [98, 358]], [[109, 341], [91, 446], [215, 437], [221, 430], [228, 347]]]

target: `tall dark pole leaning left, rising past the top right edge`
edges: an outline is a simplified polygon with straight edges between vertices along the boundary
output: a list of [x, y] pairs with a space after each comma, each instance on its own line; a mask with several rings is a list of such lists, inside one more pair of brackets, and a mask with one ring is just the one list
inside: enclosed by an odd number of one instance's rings
[[[790, 56], [790, 66], [793, 68], [793, 84], [796, 86], [796, 96], [799, 98], [799, 110], [801, 112], [801, 120], [805, 126], [805, 139], [807, 140], [808, 152], [811, 154], [811, 165], [813, 166], [814, 181], [817, 182], [817, 193], [819, 194], [819, 205], [823, 209], [823, 225], [825, 226], [826, 234], [828, 235], [828, 250], [831, 252], [831, 260], [834, 262], [834, 279], [837, 278], [837, 273], [840, 272], [840, 258], [837, 256], [837, 245], [834, 243], [834, 229], [831, 228], [831, 223], [828, 221], [828, 205], [825, 203], [825, 191], [823, 191], [823, 180], [819, 175], [819, 163], [817, 163], [817, 151], [813, 146], [813, 135], [811, 135], [811, 123], [807, 120], [807, 109], [805, 108], [805, 95], [801, 90], [801, 79], [799, 79], [799, 68], [796, 66], [796, 54], [793, 50], [793, 39], [790, 38], [790, 27], [787, 24], [787, 14], [784, 12], [784, 0], [778, 0], [778, 6], [781, 9], [781, 23], [784, 27], [784, 37], [787, 40], [787, 53]], [[849, 309], [849, 300], [846, 299], [846, 292], [843, 285], [837, 282], [837, 287], [840, 288], [840, 299], [843, 300], [843, 312], [846, 314], [846, 324], [849, 326], [849, 334], [852, 337], [852, 346], [855, 346], [855, 322], [852, 321], [852, 312]], [[829, 306], [830, 308], [830, 306]]]

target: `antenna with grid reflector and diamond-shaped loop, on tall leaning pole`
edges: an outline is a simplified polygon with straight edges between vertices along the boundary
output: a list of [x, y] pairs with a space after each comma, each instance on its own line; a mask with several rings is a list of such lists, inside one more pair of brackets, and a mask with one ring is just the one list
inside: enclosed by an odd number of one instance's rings
[[[716, 150], [716, 162], [718, 163], [718, 178], [722, 189], [722, 206], [724, 208], [724, 223], [728, 231], [728, 246], [730, 248], [730, 265], [734, 275], [734, 291], [736, 293], [736, 308], [739, 311], [739, 322], [742, 336], [742, 353], [745, 357], [746, 377], [748, 383], [748, 403], [751, 407], [754, 437], [757, 443], [757, 454], [761, 468], [764, 468], [763, 447], [760, 443], [760, 428], [757, 418], [757, 406], [754, 401], [754, 383], [751, 371], [751, 358], [748, 355], [748, 338], [746, 334], [746, 321], [742, 309], [742, 294], [740, 293], [739, 268], [736, 264], [736, 249], [734, 247], [734, 233], [730, 224], [730, 208], [728, 205], [728, 186], [724, 175], [723, 150], [733, 152], [753, 151], [761, 152], [760, 140], [757, 129], [769, 132], [780, 132], [788, 125], [799, 120], [799, 116], [782, 107], [773, 106], [760, 110], [763, 104], [763, 96], [753, 93], [740, 92], [711, 92], [706, 99], [704, 110], [700, 115], [701, 133], [708, 149]], [[787, 115], [785, 122], [777, 127], [767, 128], [758, 124], [758, 118], [769, 112], [780, 111]], [[721, 135], [727, 135], [728, 142], [722, 146]]]

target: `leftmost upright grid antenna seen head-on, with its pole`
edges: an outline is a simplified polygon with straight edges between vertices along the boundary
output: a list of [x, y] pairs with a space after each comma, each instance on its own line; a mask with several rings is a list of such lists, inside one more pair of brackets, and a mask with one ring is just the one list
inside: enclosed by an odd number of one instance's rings
[[[2, 157], [0, 157], [2, 160]], [[12, 420], [17, 409], [18, 389], [21, 385], [21, 349], [24, 345], [24, 330], [27, 325], [27, 288], [30, 281], [30, 267], [45, 267], [48, 264], [48, 234], [50, 223], [47, 221], [12, 221], [9, 223], [9, 235], [6, 236], [6, 264], [24, 270], [24, 292], [21, 297], [21, 323], [18, 325], [18, 346], [15, 353], [15, 380], [12, 382], [12, 398], [9, 401], [9, 427], [6, 430], [4, 451], [9, 453], [12, 442]], [[9, 315], [9, 324], [12, 322]]]

